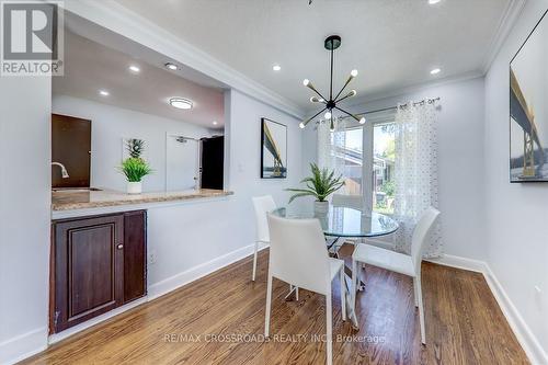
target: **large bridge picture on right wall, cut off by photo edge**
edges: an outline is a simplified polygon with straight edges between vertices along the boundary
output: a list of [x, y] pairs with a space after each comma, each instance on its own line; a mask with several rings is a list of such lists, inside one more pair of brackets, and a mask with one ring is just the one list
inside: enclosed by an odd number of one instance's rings
[[510, 181], [548, 181], [546, 12], [510, 62]]

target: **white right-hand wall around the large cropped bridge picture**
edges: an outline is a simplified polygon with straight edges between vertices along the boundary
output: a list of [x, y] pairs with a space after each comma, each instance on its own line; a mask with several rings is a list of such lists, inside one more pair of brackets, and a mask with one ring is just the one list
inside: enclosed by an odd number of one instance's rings
[[[488, 263], [525, 326], [538, 339], [539, 346], [533, 349], [544, 363], [548, 363], [548, 184], [509, 182], [509, 65], [546, 9], [547, 0], [526, 3], [487, 75], [483, 174]], [[541, 295], [536, 294], [535, 286]]]

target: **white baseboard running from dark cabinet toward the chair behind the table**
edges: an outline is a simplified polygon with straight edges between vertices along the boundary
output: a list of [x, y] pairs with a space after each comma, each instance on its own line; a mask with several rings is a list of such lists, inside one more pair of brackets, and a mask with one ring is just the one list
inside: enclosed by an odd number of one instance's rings
[[[187, 271], [168, 277], [159, 283], [152, 284], [148, 287], [148, 298], [149, 300], [156, 299], [164, 294], [180, 288], [181, 286], [204, 277], [219, 269], [244, 259], [250, 254], [253, 254], [254, 248], [254, 243], [246, 246], [241, 249], [235, 250], [219, 258], [215, 258], [208, 262], [204, 262], [203, 264], [189, 269]], [[264, 248], [266, 248], [266, 246], [260, 244], [259, 250], [263, 250]]]

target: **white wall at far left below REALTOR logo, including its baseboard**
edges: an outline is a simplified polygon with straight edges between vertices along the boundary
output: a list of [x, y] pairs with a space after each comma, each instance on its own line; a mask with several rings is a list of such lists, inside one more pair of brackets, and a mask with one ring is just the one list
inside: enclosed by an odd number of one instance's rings
[[0, 364], [46, 345], [50, 90], [47, 77], [0, 80]]

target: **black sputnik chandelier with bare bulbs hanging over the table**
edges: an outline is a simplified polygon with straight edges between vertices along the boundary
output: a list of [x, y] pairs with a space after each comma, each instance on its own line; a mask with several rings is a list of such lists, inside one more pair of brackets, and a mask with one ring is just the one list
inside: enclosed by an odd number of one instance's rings
[[317, 94], [317, 96], [310, 98], [310, 102], [312, 102], [312, 103], [321, 103], [321, 104], [323, 104], [326, 106], [321, 111], [319, 111], [318, 113], [316, 113], [312, 117], [310, 117], [310, 118], [301, 122], [299, 124], [300, 128], [305, 128], [306, 125], [308, 123], [310, 123], [310, 121], [312, 121], [318, 115], [320, 115], [321, 113], [323, 113], [323, 112], [327, 111], [326, 114], [323, 115], [323, 117], [326, 118], [326, 121], [330, 121], [330, 129], [333, 132], [335, 129], [335, 127], [334, 127], [334, 121], [333, 121], [333, 110], [338, 110], [338, 111], [340, 111], [340, 112], [342, 112], [344, 114], [350, 115], [351, 117], [353, 117], [354, 119], [356, 119], [359, 124], [365, 124], [365, 117], [361, 117], [359, 118], [356, 115], [346, 112], [345, 110], [341, 109], [338, 105], [338, 103], [342, 102], [343, 100], [356, 95], [356, 91], [355, 90], [351, 90], [347, 94], [341, 96], [341, 94], [344, 91], [344, 89], [346, 89], [346, 87], [349, 85], [349, 83], [357, 76], [357, 70], [352, 70], [352, 72], [350, 72], [349, 79], [346, 79], [346, 82], [344, 82], [344, 85], [342, 87], [341, 91], [339, 91], [335, 95], [333, 95], [333, 53], [340, 46], [341, 46], [341, 37], [340, 36], [338, 36], [338, 35], [331, 35], [331, 36], [329, 36], [329, 37], [326, 38], [324, 47], [326, 47], [326, 49], [328, 49], [329, 52], [331, 52], [331, 78], [330, 78], [330, 84], [329, 84], [329, 99], [324, 98], [318, 90], [316, 90], [316, 88], [310, 82], [310, 80], [305, 79], [302, 81], [302, 84], [305, 87], [307, 87], [308, 89], [312, 90]]

